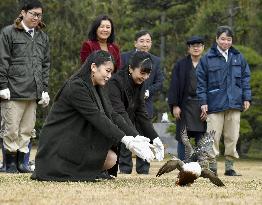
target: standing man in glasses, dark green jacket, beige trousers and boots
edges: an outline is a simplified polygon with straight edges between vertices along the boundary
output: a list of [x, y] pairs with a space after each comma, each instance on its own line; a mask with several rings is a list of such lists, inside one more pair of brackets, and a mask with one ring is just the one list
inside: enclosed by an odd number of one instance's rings
[[6, 172], [26, 173], [23, 163], [36, 121], [36, 107], [49, 103], [49, 40], [41, 30], [41, 2], [27, 1], [13, 25], [0, 34], [0, 98]]

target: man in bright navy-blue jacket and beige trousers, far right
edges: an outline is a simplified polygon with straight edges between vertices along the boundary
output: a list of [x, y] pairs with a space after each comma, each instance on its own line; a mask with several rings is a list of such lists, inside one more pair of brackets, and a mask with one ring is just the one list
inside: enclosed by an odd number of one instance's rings
[[197, 66], [197, 94], [207, 116], [207, 131], [215, 130], [210, 169], [217, 173], [215, 157], [219, 155], [221, 135], [225, 144], [225, 175], [238, 176], [233, 168], [239, 158], [240, 113], [251, 102], [250, 70], [242, 54], [232, 47], [233, 32], [229, 26], [218, 27], [216, 44], [200, 59]]

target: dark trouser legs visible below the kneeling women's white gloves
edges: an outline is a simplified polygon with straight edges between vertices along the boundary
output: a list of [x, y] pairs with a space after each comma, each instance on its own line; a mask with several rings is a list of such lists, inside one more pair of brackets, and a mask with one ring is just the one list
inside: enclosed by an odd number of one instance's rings
[[[136, 172], [138, 174], [148, 174], [150, 164], [143, 159], [136, 157]], [[121, 144], [119, 156], [119, 170], [122, 173], [131, 174], [133, 169], [132, 152], [124, 144]]]

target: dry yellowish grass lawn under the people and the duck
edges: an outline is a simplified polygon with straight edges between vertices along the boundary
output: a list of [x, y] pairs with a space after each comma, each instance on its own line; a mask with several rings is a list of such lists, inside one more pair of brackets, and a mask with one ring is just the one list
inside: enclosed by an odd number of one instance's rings
[[[165, 160], [166, 161], [166, 160]], [[96, 183], [54, 183], [30, 180], [29, 174], [0, 174], [0, 204], [262, 204], [262, 161], [239, 160], [243, 176], [226, 177], [223, 161], [218, 174], [226, 187], [199, 178], [190, 187], [175, 186], [177, 171], [155, 177], [164, 162], [152, 162], [149, 175], [121, 175]]]

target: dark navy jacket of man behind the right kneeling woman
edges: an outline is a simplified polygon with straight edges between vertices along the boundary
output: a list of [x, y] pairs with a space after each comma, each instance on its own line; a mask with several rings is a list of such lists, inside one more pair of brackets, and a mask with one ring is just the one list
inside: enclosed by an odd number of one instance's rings
[[[132, 50], [129, 52], [125, 52], [121, 54], [121, 63], [123, 67], [129, 65], [129, 60], [131, 56], [134, 54], [136, 50]], [[153, 97], [154, 95], [161, 91], [163, 86], [164, 75], [161, 69], [160, 58], [152, 55], [150, 57], [152, 59], [153, 68], [149, 75], [149, 78], [145, 81], [144, 88], [145, 90], [149, 90], [149, 97], [145, 100], [146, 111], [150, 118], [153, 117]]]

